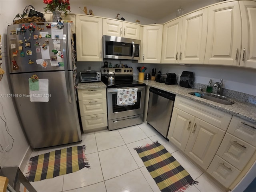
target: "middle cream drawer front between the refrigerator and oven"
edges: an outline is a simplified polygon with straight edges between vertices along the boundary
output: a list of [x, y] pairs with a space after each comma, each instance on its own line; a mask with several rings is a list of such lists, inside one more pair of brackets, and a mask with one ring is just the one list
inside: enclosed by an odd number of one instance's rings
[[82, 100], [79, 101], [80, 115], [95, 115], [107, 112], [106, 99]]

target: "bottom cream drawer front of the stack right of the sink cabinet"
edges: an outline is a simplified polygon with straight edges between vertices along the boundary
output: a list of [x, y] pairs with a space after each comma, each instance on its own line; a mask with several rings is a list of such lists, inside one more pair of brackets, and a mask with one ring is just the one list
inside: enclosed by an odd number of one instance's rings
[[214, 156], [207, 172], [226, 188], [228, 188], [240, 174], [240, 171], [237, 168], [217, 155]]

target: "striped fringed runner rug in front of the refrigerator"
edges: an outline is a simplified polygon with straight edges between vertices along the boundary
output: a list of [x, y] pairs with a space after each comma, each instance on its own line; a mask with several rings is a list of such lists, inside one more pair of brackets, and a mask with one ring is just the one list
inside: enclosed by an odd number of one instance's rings
[[84, 151], [85, 146], [74, 146], [31, 157], [26, 173], [28, 181], [40, 181], [90, 168]]

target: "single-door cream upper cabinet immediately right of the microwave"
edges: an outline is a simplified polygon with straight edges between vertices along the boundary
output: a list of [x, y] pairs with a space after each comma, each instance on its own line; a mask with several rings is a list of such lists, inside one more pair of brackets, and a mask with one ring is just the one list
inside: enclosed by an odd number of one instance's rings
[[163, 25], [143, 27], [140, 63], [160, 63], [162, 52]]

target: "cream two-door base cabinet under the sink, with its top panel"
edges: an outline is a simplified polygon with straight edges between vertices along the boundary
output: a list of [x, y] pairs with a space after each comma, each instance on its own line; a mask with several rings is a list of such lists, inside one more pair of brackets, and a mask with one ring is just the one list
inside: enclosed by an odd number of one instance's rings
[[232, 115], [176, 96], [167, 138], [206, 170]]

